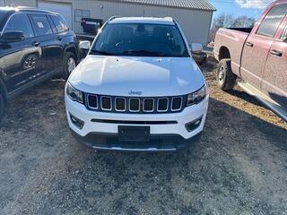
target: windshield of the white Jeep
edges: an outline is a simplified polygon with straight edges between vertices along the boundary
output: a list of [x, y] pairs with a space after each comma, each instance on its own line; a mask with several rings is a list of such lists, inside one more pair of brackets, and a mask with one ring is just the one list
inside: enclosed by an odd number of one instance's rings
[[100, 32], [91, 55], [187, 57], [176, 26], [160, 24], [108, 24]]

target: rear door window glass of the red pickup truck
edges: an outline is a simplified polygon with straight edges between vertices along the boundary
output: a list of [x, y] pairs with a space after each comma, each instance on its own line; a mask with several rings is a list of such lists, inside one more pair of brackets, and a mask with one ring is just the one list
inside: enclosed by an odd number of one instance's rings
[[283, 21], [287, 12], [287, 4], [280, 4], [274, 6], [269, 13], [266, 14], [265, 19], [261, 22], [257, 34], [269, 38], [274, 38], [276, 30]]

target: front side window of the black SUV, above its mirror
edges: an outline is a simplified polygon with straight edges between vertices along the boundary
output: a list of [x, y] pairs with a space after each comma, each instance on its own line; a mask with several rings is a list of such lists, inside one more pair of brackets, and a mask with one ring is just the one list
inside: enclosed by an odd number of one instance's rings
[[27, 14], [14, 14], [4, 30], [4, 32], [9, 31], [22, 31], [26, 39], [34, 37], [34, 32]]

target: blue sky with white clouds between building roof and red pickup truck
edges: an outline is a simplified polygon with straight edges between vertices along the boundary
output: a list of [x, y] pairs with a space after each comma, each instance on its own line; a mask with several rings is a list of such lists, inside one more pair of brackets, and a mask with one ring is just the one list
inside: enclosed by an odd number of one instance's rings
[[210, 0], [211, 4], [215, 6], [217, 12], [214, 17], [219, 13], [231, 13], [235, 16], [248, 15], [258, 18], [262, 11], [273, 0]]

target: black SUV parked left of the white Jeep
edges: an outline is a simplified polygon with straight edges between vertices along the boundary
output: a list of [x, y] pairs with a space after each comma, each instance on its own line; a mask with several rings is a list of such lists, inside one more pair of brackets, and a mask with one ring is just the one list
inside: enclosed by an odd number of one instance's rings
[[0, 120], [7, 99], [78, 62], [78, 42], [64, 18], [48, 11], [0, 7]]

